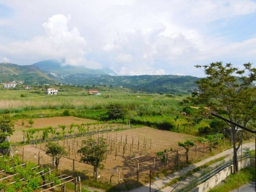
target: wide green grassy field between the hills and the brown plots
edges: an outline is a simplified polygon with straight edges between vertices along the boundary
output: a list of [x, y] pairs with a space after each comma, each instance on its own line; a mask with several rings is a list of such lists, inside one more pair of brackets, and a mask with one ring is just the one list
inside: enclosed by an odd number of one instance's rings
[[[59, 117], [63, 116], [63, 111], [69, 110], [70, 115], [73, 116], [100, 120], [106, 113], [108, 105], [119, 103], [128, 110], [126, 119], [134, 119], [139, 121], [139, 124], [150, 122], [154, 126], [154, 123], [169, 122], [173, 124], [173, 130], [192, 135], [198, 135], [200, 126], [208, 125], [207, 120], [199, 124], [191, 124], [193, 118], [180, 115], [184, 108], [182, 99], [186, 99], [186, 95], [132, 93], [125, 88], [102, 87], [101, 95], [89, 96], [81, 87], [55, 88], [59, 89], [57, 95], [47, 95], [39, 88], [1, 89], [0, 114], [7, 114], [14, 119], [26, 119], [41, 116]], [[197, 110], [194, 111], [196, 113]], [[178, 119], [175, 119], [177, 116]]]

